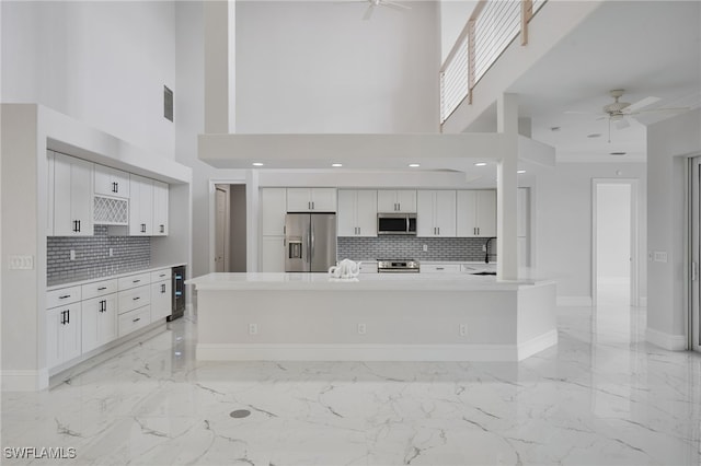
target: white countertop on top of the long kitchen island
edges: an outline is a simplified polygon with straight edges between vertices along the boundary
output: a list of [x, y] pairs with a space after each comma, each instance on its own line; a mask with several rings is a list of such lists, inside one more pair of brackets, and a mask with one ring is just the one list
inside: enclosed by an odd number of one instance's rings
[[494, 276], [456, 273], [361, 273], [355, 279], [334, 279], [327, 273], [208, 273], [185, 281], [197, 290], [517, 290], [552, 283], [552, 280], [497, 280]]

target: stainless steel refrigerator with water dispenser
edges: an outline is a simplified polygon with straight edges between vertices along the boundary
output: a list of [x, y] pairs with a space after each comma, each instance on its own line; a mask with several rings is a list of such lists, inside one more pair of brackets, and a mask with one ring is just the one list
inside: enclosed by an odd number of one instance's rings
[[336, 264], [336, 214], [288, 213], [285, 271], [325, 272]]

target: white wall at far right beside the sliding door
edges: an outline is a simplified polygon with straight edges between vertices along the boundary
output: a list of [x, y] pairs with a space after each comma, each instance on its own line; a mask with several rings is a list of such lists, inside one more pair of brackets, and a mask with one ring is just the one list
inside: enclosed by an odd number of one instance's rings
[[685, 178], [687, 156], [701, 154], [699, 128], [699, 109], [647, 128], [647, 249], [668, 258], [650, 264], [647, 339], [669, 349], [686, 347]]

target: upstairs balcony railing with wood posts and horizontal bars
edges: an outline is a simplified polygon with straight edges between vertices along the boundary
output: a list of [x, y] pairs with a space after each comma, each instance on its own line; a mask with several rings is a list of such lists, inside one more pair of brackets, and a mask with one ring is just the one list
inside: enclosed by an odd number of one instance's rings
[[528, 22], [547, 0], [481, 0], [440, 68], [440, 124], [519, 35], [528, 44]]

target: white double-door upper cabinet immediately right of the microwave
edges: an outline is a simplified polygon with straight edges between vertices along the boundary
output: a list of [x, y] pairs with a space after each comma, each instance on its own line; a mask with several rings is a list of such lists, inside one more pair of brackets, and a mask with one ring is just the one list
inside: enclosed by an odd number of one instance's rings
[[456, 235], [456, 191], [420, 190], [416, 201], [416, 236]]

